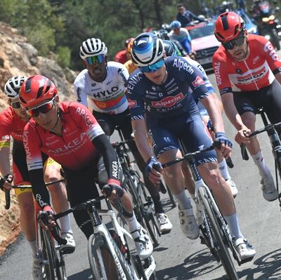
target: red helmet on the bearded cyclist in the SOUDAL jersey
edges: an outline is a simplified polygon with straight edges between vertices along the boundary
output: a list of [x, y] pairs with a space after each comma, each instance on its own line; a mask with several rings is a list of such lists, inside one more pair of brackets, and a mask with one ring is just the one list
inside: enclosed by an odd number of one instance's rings
[[215, 24], [215, 36], [220, 42], [231, 41], [245, 29], [245, 22], [237, 13], [226, 12], [218, 15]]

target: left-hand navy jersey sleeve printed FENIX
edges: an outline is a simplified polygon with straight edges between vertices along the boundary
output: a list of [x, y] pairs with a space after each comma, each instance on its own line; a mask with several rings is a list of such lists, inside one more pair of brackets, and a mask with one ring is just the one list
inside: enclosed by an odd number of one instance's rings
[[[135, 72], [134, 72], [135, 73]], [[129, 109], [131, 112], [131, 120], [144, 119], [145, 115], [145, 102], [143, 100], [143, 94], [145, 93], [145, 89], [141, 88], [142, 78], [141, 72], [136, 72], [129, 77], [127, 83], [127, 99], [129, 103]]]

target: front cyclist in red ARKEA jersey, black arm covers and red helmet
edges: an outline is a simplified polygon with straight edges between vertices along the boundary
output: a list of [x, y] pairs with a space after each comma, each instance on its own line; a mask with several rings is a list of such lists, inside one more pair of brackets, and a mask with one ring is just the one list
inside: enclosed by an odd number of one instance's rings
[[[22, 84], [20, 104], [32, 117], [25, 126], [23, 143], [32, 191], [42, 210], [53, 214], [42, 177], [41, 152], [44, 152], [63, 167], [70, 206], [99, 196], [95, 181], [111, 200], [119, 196], [129, 212], [125, 218], [138, 255], [148, 258], [153, 250], [152, 243], [136, 220], [129, 195], [121, 187], [115, 150], [89, 109], [78, 102], [59, 102], [53, 82], [40, 75], [31, 76]], [[89, 238], [93, 226], [87, 211], [74, 213], [74, 218]]]

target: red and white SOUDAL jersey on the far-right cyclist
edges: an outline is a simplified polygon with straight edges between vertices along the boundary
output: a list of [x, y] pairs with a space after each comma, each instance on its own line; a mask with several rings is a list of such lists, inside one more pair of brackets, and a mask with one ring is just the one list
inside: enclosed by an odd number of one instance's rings
[[248, 35], [249, 53], [243, 61], [235, 60], [223, 46], [213, 57], [216, 84], [221, 93], [259, 91], [269, 86], [281, 72], [281, 60], [273, 45], [263, 36]]

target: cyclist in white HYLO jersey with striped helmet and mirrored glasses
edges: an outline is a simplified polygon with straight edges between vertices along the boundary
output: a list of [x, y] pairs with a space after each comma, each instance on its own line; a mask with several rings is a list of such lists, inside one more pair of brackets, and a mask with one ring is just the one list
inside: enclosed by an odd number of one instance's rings
[[[126, 82], [129, 72], [118, 62], [107, 62], [107, 47], [100, 39], [90, 38], [80, 47], [80, 56], [86, 66], [74, 81], [74, 92], [78, 102], [88, 107], [87, 96], [93, 101], [93, 116], [110, 136], [119, 126], [125, 140], [131, 139], [131, 114], [126, 99]], [[164, 213], [157, 187], [145, 177], [145, 161], [138, 152], [135, 142], [128, 143], [143, 173], [145, 186], [151, 194], [160, 231], [168, 233], [172, 225]]]

